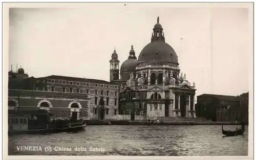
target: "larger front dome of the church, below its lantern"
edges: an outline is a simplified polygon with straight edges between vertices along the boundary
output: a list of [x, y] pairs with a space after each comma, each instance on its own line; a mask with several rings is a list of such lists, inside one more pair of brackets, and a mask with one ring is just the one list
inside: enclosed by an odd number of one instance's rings
[[142, 49], [138, 61], [167, 61], [178, 64], [178, 56], [164, 41], [152, 41]]

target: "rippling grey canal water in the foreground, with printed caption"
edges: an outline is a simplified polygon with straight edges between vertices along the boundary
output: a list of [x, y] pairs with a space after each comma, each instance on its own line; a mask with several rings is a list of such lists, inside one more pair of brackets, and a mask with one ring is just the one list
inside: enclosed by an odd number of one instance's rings
[[[240, 126], [224, 126], [224, 129], [236, 127]], [[244, 135], [223, 137], [221, 125], [87, 126], [79, 133], [9, 136], [8, 153], [240, 156], [248, 155], [248, 126], [245, 129]]]

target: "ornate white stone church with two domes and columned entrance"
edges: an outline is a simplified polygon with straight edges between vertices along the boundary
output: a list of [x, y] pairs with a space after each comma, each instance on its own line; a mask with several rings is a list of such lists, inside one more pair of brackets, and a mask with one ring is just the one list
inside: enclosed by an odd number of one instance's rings
[[153, 28], [151, 42], [138, 59], [133, 45], [120, 67], [112, 54], [110, 81], [119, 84], [118, 111], [121, 119], [145, 120], [160, 117], [196, 117], [195, 83], [180, 72], [175, 50], [165, 42], [162, 25]]

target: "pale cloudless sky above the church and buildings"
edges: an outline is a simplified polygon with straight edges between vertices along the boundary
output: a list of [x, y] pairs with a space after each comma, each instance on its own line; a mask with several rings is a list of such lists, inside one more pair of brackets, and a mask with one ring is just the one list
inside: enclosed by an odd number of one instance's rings
[[172, 4], [83, 4], [9, 10], [9, 70], [109, 81], [111, 54], [120, 66], [134, 45], [150, 43], [159, 16], [165, 42], [196, 95], [238, 96], [249, 90], [249, 10]]

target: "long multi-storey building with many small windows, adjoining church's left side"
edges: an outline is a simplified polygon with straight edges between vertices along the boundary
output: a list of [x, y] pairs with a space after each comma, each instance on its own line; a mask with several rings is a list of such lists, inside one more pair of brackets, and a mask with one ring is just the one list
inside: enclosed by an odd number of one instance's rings
[[[24, 70], [23, 70], [24, 71]], [[119, 119], [118, 84], [97, 79], [67, 76], [47, 76], [40, 78], [9, 78], [9, 89], [40, 90], [62, 94], [71, 93], [88, 97], [90, 119]], [[102, 99], [103, 105], [100, 104]], [[104, 113], [104, 114], [102, 114]]]

